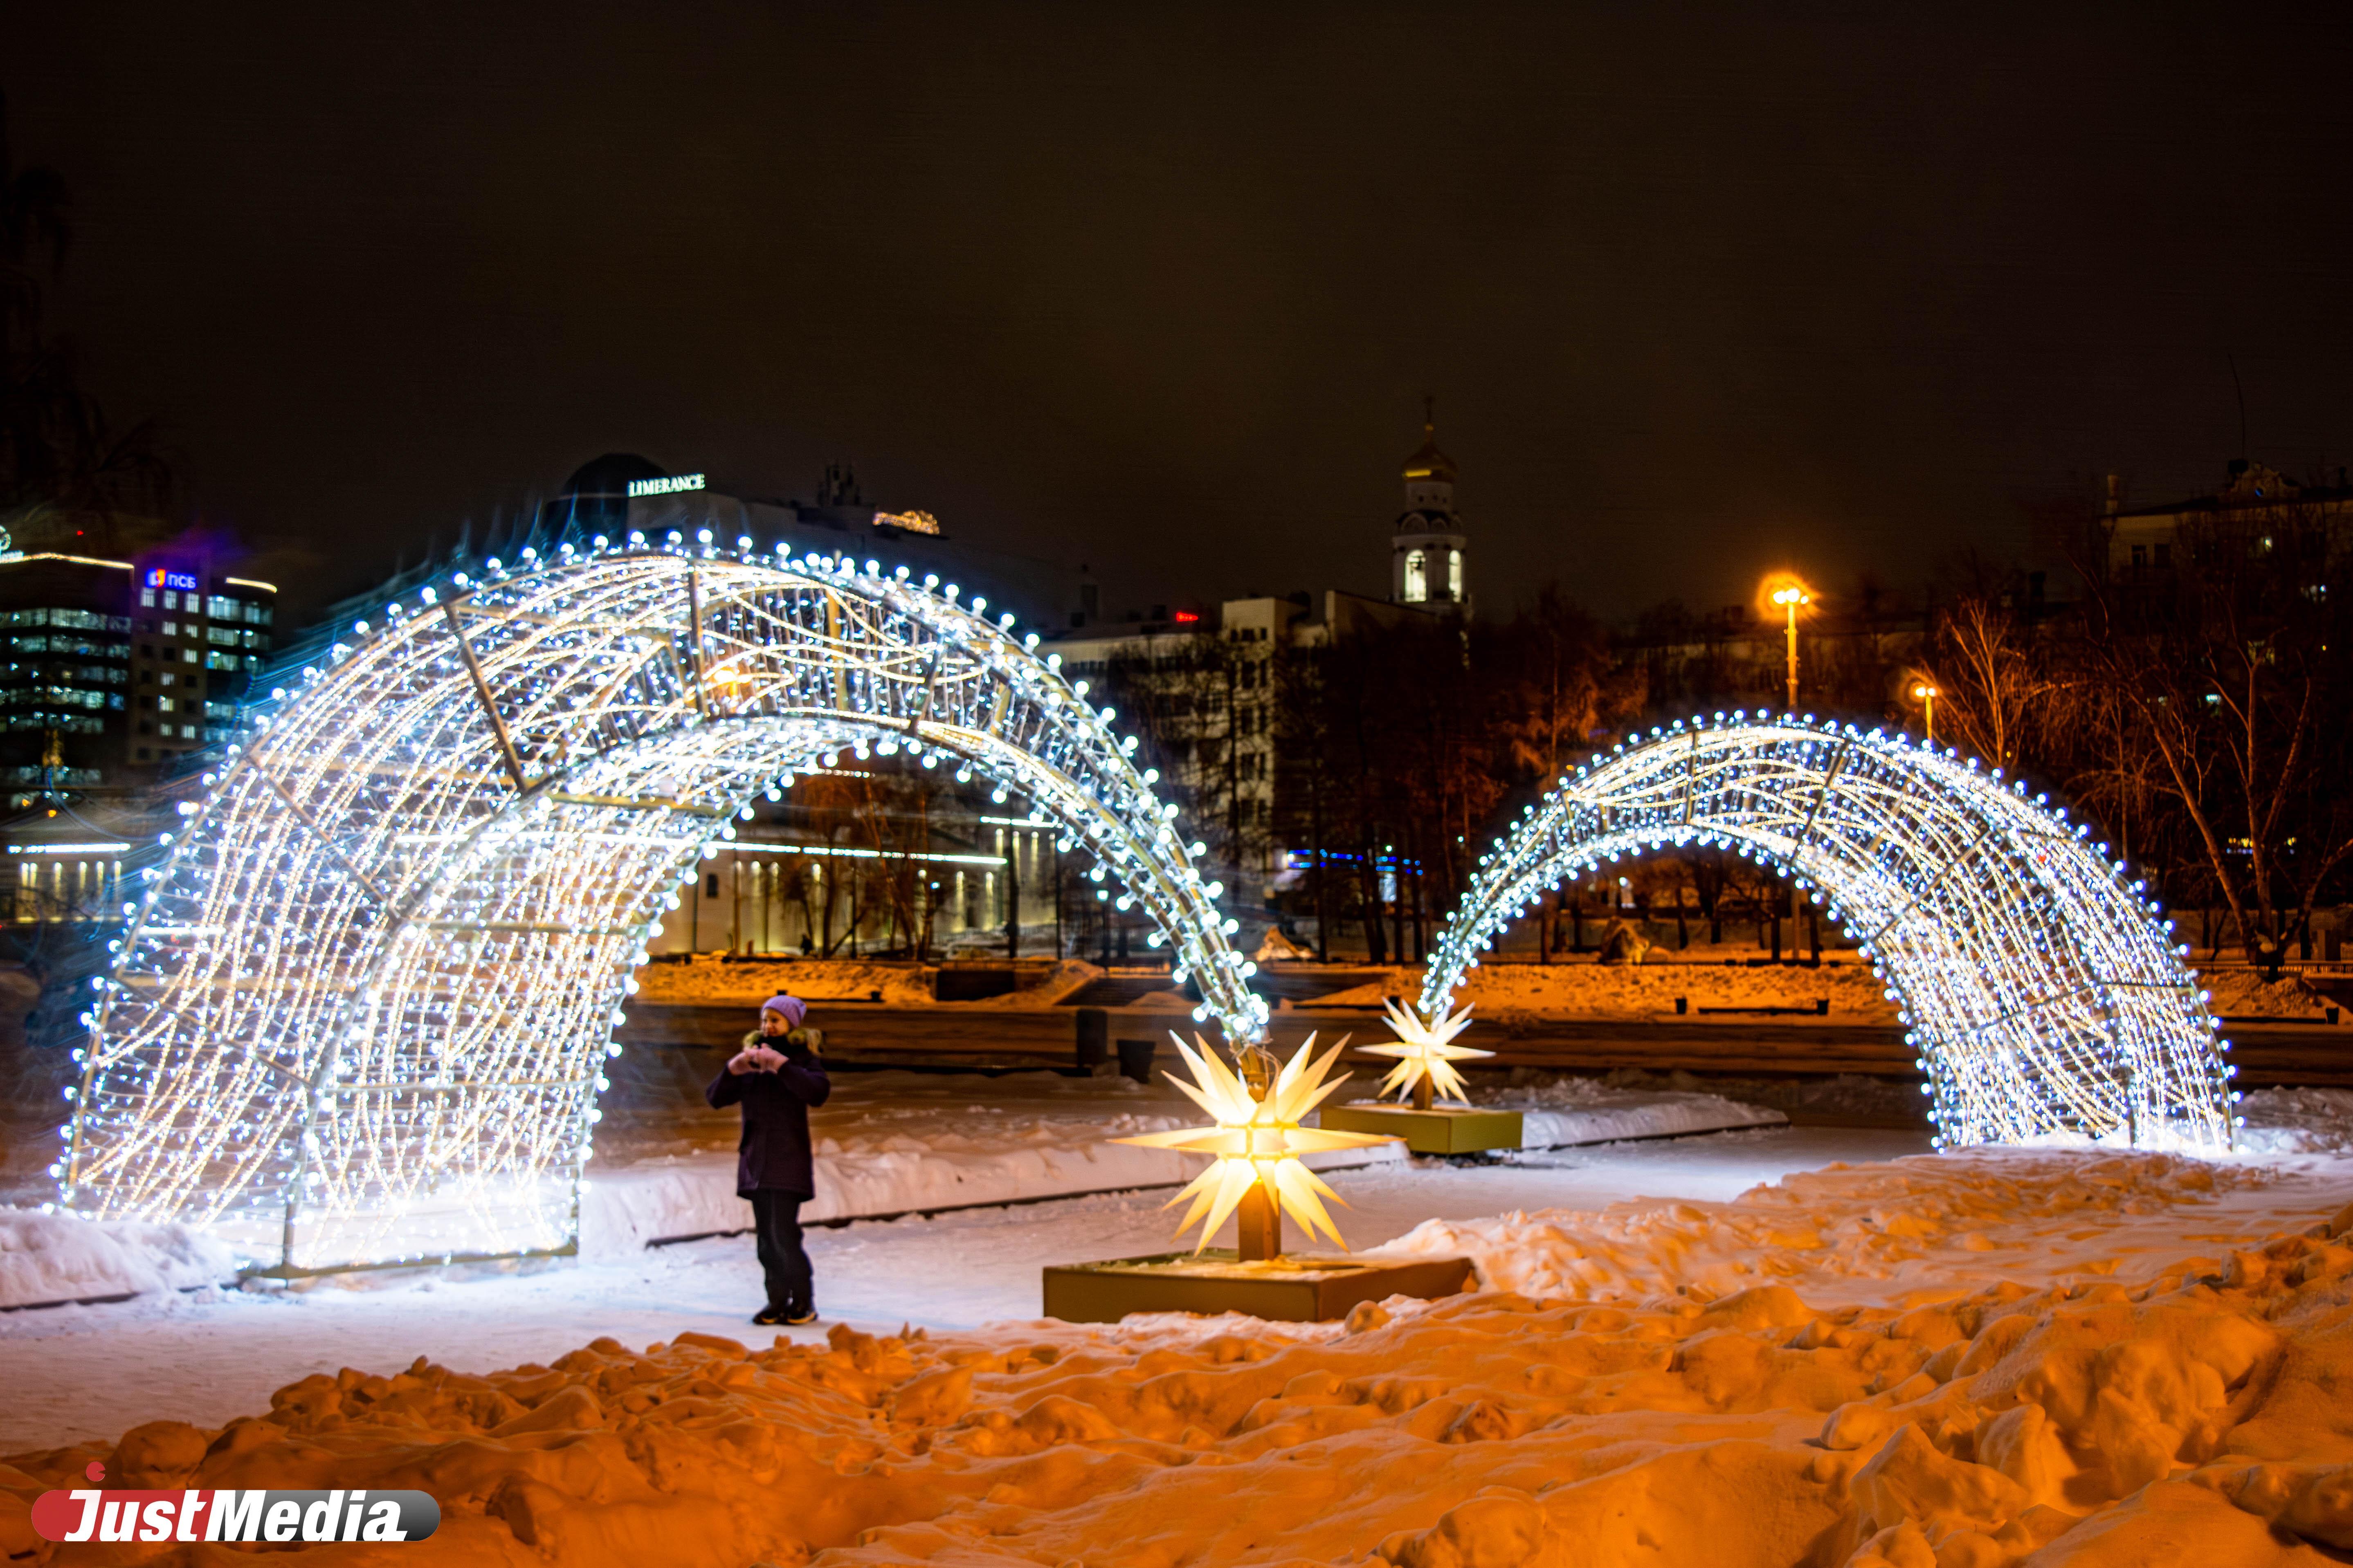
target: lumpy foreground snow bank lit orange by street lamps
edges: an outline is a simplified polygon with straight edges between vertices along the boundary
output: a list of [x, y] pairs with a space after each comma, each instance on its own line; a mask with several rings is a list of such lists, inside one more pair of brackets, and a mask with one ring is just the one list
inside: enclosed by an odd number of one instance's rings
[[[0, 1488], [92, 1460], [141, 1488], [421, 1486], [435, 1561], [567, 1568], [2339, 1561], [2353, 1211], [2249, 1234], [2266, 1180], [2104, 1154], [1833, 1168], [1628, 1232], [1617, 1284], [1489, 1237], [1482, 1267], [1525, 1253], [1527, 1291], [1325, 1326], [598, 1338], [489, 1375], [386, 1354], [266, 1420], [19, 1455]], [[1795, 1274], [1722, 1274], [1779, 1251]], [[1899, 1253], [1948, 1269], [1934, 1302], [1889, 1295]], [[21, 1519], [0, 1514], [12, 1554]]]

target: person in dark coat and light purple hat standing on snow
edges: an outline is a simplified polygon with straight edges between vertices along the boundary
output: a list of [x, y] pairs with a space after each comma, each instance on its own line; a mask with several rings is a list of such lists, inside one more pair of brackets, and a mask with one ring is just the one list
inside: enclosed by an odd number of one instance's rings
[[821, 1037], [805, 1030], [809, 1004], [769, 997], [760, 1004], [760, 1027], [727, 1058], [704, 1088], [713, 1110], [744, 1105], [744, 1140], [736, 1145], [736, 1197], [751, 1201], [760, 1269], [767, 1274], [767, 1307], [753, 1324], [814, 1324], [816, 1295], [809, 1253], [800, 1246], [800, 1206], [816, 1197], [809, 1168], [809, 1107], [833, 1093]]

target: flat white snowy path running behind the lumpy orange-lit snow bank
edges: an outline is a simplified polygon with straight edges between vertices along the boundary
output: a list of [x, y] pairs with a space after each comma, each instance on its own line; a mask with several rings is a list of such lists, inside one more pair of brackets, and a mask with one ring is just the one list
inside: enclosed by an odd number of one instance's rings
[[[1913, 1133], [1774, 1128], [1525, 1154], [1494, 1166], [1393, 1161], [1327, 1180], [1348, 1204], [1334, 1211], [1341, 1234], [1367, 1248], [1431, 1218], [1727, 1201], [1791, 1171], [1925, 1147], [1927, 1138]], [[1162, 1213], [1167, 1197], [1106, 1194], [812, 1229], [819, 1307], [828, 1321], [892, 1331], [1028, 1319], [1047, 1262], [1169, 1251], [1176, 1215]], [[736, 1225], [741, 1211], [736, 1204]], [[1221, 1241], [1231, 1246], [1231, 1222]], [[374, 1361], [393, 1352], [402, 1363], [424, 1354], [489, 1371], [548, 1361], [602, 1333], [631, 1342], [682, 1331], [746, 1338], [760, 1302], [751, 1237], [715, 1237], [527, 1274], [348, 1274], [299, 1295], [198, 1291], [12, 1312], [0, 1314], [0, 1453], [151, 1418], [221, 1425], [266, 1410], [271, 1389], [292, 1378], [348, 1363], [386, 1371]], [[384, 1354], [369, 1359], [365, 1347]]]

